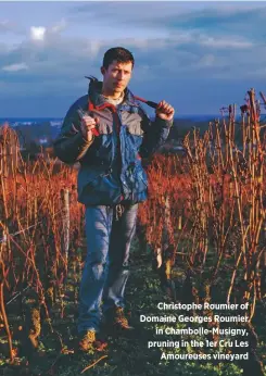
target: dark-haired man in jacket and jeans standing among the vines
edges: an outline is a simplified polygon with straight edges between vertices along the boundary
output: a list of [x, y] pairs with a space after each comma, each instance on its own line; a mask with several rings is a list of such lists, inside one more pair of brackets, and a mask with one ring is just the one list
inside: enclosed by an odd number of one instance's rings
[[[135, 60], [122, 47], [107, 50], [89, 92], [68, 110], [54, 141], [56, 156], [80, 163], [78, 201], [86, 205], [87, 259], [79, 291], [79, 348], [92, 349], [101, 318], [130, 329], [124, 292], [138, 203], [147, 199], [141, 165], [168, 137], [174, 109], [165, 101], [151, 122], [127, 88]], [[100, 305], [102, 302], [102, 312]]]

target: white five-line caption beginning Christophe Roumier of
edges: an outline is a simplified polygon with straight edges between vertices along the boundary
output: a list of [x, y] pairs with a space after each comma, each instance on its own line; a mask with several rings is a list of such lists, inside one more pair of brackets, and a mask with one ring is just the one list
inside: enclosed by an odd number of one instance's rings
[[[163, 340], [148, 341], [149, 349], [165, 350], [162, 352], [161, 360], [213, 359], [232, 362], [249, 359], [246, 351], [249, 331], [244, 325], [249, 323], [249, 316], [245, 314], [249, 309], [248, 302], [242, 304], [160, 302], [157, 309], [170, 311], [170, 313], [140, 314], [140, 322], [154, 323], [154, 335], [165, 336]], [[200, 312], [197, 313], [197, 311]], [[206, 314], [207, 311], [212, 314]], [[180, 349], [185, 349], [186, 353]], [[216, 349], [216, 352], [207, 353], [210, 349]], [[198, 351], [193, 352], [193, 350]]]

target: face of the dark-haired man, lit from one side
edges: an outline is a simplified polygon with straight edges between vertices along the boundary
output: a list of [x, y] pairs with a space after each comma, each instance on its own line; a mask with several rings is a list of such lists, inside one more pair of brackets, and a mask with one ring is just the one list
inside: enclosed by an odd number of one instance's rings
[[123, 92], [131, 78], [132, 63], [118, 63], [114, 60], [107, 70], [102, 67], [101, 72], [107, 91], [113, 93]]

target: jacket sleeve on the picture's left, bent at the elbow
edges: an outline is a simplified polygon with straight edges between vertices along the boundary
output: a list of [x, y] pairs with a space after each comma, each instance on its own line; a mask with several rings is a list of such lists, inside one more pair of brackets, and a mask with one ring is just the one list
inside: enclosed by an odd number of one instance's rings
[[75, 102], [66, 113], [61, 131], [53, 141], [55, 155], [67, 164], [78, 162], [86, 154], [94, 139], [93, 136], [91, 141], [87, 141], [83, 137], [77, 109], [78, 105]]

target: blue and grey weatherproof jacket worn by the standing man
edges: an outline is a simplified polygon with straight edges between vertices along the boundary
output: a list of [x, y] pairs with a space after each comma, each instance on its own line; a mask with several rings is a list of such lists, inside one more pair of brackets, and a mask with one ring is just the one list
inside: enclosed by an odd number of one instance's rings
[[[67, 164], [80, 163], [78, 201], [85, 205], [142, 202], [148, 197], [148, 177], [141, 159], [165, 142], [173, 121], [151, 122], [129, 89], [123, 103], [114, 106], [101, 88], [101, 82], [91, 82], [88, 95], [69, 108], [53, 143], [55, 155]], [[91, 142], [81, 135], [78, 109], [100, 118], [99, 136]]]

